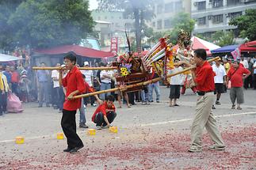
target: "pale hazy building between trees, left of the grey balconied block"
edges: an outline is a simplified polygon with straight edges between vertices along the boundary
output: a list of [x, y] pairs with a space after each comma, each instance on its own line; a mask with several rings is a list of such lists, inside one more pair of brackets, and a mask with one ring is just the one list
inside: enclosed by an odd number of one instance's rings
[[153, 10], [155, 17], [149, 25], [155, 32], [162, 32], [174, 27], [171, 20], [176, 13], [190, 13], [191, 0], [158, 0], [155, 1]]

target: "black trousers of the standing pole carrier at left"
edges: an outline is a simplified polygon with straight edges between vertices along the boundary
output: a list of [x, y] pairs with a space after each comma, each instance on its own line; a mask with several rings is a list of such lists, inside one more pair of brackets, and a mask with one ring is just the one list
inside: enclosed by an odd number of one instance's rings
[[67, 138], [67, 147], [70, 149], [83, 146], [81, 138], [76, 134], [75, 114], [76, 111], [63, 109], [63, 117], [61, 119], [61, 127]]

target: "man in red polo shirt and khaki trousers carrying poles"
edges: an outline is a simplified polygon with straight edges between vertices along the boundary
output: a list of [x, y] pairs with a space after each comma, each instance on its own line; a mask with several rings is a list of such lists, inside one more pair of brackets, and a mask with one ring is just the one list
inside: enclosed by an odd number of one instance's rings
[[[197, 49], [194, 51], [194, 62], [197, 65], [196, 69], [191, 70], [193, 81], [197, 85], [197, 107], [195, 118], [193, 119], [191, 129], [191, 142], [192, 145], [189, 148], [189, 152], [201, 152], [202, 151], [202, 134], [204, 127], [208, 131], [208, 134], [215, 143], [210, 146], [212, 150], [223, 150], [225, 145], [221, 138], [220, 131], [216, 126], [216, 119], [212, 115], [212, 104], [214, 103], [214, 76], [216, 75], [212, 66], [206, 61], [206, 51], [204, 49]], [[192, 66], [186, 62], [180, 62], [186, 66]]]

